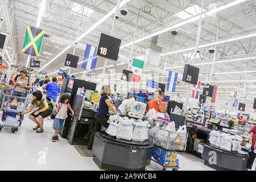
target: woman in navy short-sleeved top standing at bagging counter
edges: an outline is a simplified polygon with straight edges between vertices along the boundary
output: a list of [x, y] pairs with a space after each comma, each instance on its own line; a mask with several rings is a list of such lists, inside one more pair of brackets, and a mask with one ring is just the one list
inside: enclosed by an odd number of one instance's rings
[[92, 135], [90, 136], [90, 140], [87, 147], [89, 150], [92, 150], [93, 140], [94, 140], [96, 131], [101, 131], [101, 126], [104, 126], [106, 129], [109, 127], [108, 118], [107, 118], [109, 114], [109, 109], [112, 110], [115, 114], [117, 114], [115, 107], [110, 102], [110, 99], [108, 96], [109, 94], [110, 94], [109, 85], [102, 86], [100, 105], [98, 106], [98, 112], [96, 113], [96, 116], [95, 116], [96, 122], [95, 122]]

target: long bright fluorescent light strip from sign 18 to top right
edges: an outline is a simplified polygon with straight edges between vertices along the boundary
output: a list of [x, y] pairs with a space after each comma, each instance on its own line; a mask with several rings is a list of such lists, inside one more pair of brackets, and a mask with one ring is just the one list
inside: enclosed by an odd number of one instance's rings
[[[207, 17], [208, 15], [217, 13], [218, 11], [224, 10], [224, 9], [226, 9], [226, 8], [228, 8], [228, 7], [237, 5], [237, 4], [242, 3], [242, 2], [245, 2], [245, 1], [247, 1], [247, 0], [237, 0], [237, 1], [233, 1], [233, 2], [231, 2], [231, 3], [228, 3], [227, 5], [218, 7], [218, 8], [216, 8], [216, 9], [214, 9], [214, 10], [210, 10], [210, 11], [208, 11], [208, 12], [202, 14], [202, 15], [201, 15], [201, 18], [203, 19], [203, 18]], [[175, 24], [175, 25], [173, 25], [173, 26], [164, 28], [164, 29], [162, 29], [162, 30], [160, 30], [160, 31], [157, 31], [157, 32], [153, 33], [153, 34], [144, 36], [144, 37], [141, 38], [141, 39], [138, 39], [138, 40], [135, 40], [135, 41], [133, 41], [133, 42], [127, 43], [127, 44], [121, 46], [120, 49], [122, 49], [122, 48], [124, 48], [124, 47], [127, 47], [127, 46], [130, 46], [130, 45], [133, 44], [133, 43], [138, 43], [138, 42], [141, 42], [142, 40], [151, 38], [152, 36], [162, 34], [163, 32], [170, 31], [170, 30], [172, 30], [173, 28], [177, 28], [177, 27], [183, 26], [184, 24], [191, 23], [191, 22], [195, 22], [196, 20], [199, 20], [199, 19], [200, 19], [200, 15], [196, 15], [196, 16], [190, 18], [190, 19], [184, 20], [183, 22], [177, 23], [177, 24]], [[161, 56], [162, 56], [162, 55], [161, 55]]]

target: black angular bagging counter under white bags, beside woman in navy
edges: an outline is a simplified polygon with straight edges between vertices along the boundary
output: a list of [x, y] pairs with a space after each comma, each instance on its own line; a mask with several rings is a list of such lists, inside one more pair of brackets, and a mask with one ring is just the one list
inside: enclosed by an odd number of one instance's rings
[[93, 161], [105, 170], [141, 171], [151, 162], [154, 144], [117, 139], [105, 133], [96, 132], [92, 151]]

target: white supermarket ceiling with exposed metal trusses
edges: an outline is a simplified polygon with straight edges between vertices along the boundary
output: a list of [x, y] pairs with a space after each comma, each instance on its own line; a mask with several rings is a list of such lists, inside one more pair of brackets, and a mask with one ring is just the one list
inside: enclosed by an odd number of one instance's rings
[[[26, 65], [28, 55], [21, 52], [26, 26], [28, 24], [35, 27], [42, 0], [5, 0], [4, 2], [1, 1], [0, 4], [0, 16], [2, 16], [0, 18], [3, 19], [0, 31], [6, 34], [7, 27], [11, 29], [11, 41], [7, 46], [5, 60], [9, 61], [14, 51], [16, 64]], [[232, 2], [238, 3], [234, 6], [224, 6]], [[199, 24], [198, 19], [190, 22], [184, 21], [199, 15], [201, 5], [202, 1], [194, 0], [127, 1], [123, 5], [128, 10], [127, 15], [123, 16], [119, 13], [119, 19], [115, 20], [113, 28], [113, 35], [122, 40], [119, 56], [122, 55], [129, 59], [131, 43], [134, 41], [131, 57], [146, 54], [150, 44], [155, 44], [162, 48], [159, 68], [166, 68], [166, 71], [174, 71], [182, 75], [184, 64], [192, 64], [193, 47], [196, 44]], [[42, 71], [54, 73], [59, 68], [65, 68], [65, 56], [67, 53], [73, 53], [75, 40], [115, 6], [117, 6], [117, 0], [47, 0], [39, 27], [46, 31], [48, 38], [43, 39], [40, 56], [37, 59], [41, 61], [41, 68], [46, 66], [49, 61], [53, 61]], [[217, 13], [207, 14], [210, 10], [218, 7], [224, 8]], [[209, 53], [208, 50], [214, 45], [207, 46], [207, 44], [215, 43], [217, 39], [219, 43], [216, 49], [216, 64], [214, 65], [212, 83], [219, 86], [220, 98], [226, 98], [230, 104], [233, 97], [231, 92], [243, 89], [246, 82], [245, 102], [252, 104], [252, 98], [256, 97], [256, 92], [253, 92], [256, 88], [256, 1], [204, 0], [203, 12], [205, 14], [201, 22], [199, 43], [201, 48], [199, 48], [200, 52], [197, 53], [195, 60], [196, 67], [200, 68], [199, 80], [209, 81], [213, 53]], [[82, 36], [78, 43], [97, 46], [101, 32], [110, 35], [113, 18], [114, 13], [89, 34]], [[177, 35], [172, 35], [168, 27], [177, 24], [180, 24], [176, 28]], [[148, 36], [165, 28], [168, 31], [163, 31], [153, 37]], [[246, 37], [243, 37], [245, 35]], [[146, 36], [148, 36], [147, 39], [140, 41]], [[67, 46], [71, 46], [71, 48], [60, 54]], [[77, 46], [75, 51], [75, 55], [80, 57], [80, 62], [84, 56], [84, 49]], [[96, 68], [103, 67], [104, 61], [103, 58], [98, 59]], [[109, 67], [106, 72], [111, 75], [110, 68], [115, 69], [115, 73], [121, 73], [122, 69], [127, 69], [128, 65], [121, 64], [120, 61], [122, 59], [108, 60], [108, 65], [114, 66]], [[81, 68], [81, 64], [77, 69], [71, 69], [71, 73], [82, 71], [85, 69]], [[101, 72], [102, 69], [97, 69], [90, 74], [98, 76], [101, 75]], [[159, 71], [152, 67], [151, 70], [143, 73], [144, 75], [159, 74]], [[55, 76], [57, 76], [57, 72]], [[159, 77], [162, 81], [163, 75], [159, 75]], [[180, 77], [178, 81], [181, 81]], [[167, 82], [167, 77], [164, 77], [163, 82]], [[177, 92], [185, 95], [186, 90], [186, 84], [183, 82], [178, 84]], [[242, 92], [243, 90], [240, 91], [241, 94]], [[170, 94], [173, 96], [176, 93]]]

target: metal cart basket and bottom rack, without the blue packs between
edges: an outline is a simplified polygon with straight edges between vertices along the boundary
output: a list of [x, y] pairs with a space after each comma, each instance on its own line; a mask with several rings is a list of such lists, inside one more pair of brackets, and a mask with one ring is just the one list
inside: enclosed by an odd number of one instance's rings
[[[151, 127], [148, 129], [148, 139], [150, 142], [167, 151], [185, 151], [187, 147], [188, 133], [178, 133], [176, 131], [165, 130], [163, 127], [166, 124], [166, 121], [161, 119], [151, 122]], [[179, 166], [165, 166], [155, 159], [151, 160], [163, 166], [163, 171], [165, 171], [166, 168], [172, 168], [172, 171], [177, 171], [177, 169], [179, 169]]]

